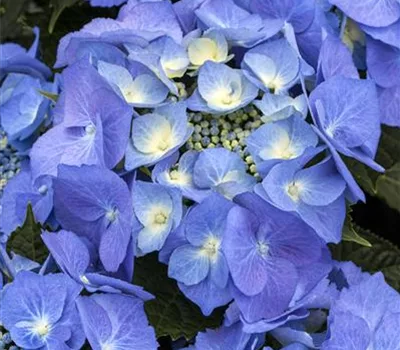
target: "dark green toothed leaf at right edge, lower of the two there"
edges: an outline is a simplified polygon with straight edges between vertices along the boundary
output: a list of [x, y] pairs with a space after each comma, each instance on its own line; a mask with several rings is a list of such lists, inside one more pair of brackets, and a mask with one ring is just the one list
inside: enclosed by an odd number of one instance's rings
[[331, 245], [332, 256], [339, 261], [353, 261], [364, 271], [382, 271], [386, 281], [400, 291], [400, 249], [393, 243], [355, 225], [372, 247], [364, 247], [354, 242]]

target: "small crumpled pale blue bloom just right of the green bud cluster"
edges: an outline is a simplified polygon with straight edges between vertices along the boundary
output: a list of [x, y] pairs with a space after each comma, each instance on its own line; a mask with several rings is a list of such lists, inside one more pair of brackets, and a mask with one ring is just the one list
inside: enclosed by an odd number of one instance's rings
[[261, 120], [264, 123], [289, 118], [293, 114], [307, 117], [308, 106], [304, 95], [295, 98], [289, 95], [275, 95], [266, 93], [261, 100], [255, 100], [254, 105], [262, 112]]

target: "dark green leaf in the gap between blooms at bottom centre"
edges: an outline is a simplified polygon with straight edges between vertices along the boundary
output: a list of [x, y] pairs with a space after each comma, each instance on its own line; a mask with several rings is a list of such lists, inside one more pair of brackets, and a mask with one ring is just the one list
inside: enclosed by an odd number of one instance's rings
[[168, 278], [167, 266], [158, 262], [156, 254], [136, 259], [134, 283], [156, 297], [146, 302], [145, 310], [157, 337], [189, 340], [199, 331], [217, 328], [222, 323], [225, 308], [204, 316], [200, 308], [182, 294], [176, 281]]

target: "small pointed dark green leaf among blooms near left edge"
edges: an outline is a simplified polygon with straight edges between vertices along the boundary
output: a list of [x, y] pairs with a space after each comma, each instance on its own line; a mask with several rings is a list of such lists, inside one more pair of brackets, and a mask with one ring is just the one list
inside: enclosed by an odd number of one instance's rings
[[11, 234], [7, 250], [43, 263], [49, 252], [40, 237], [41, 233], [42, 226], [35, 221], [32, 205], [28, 204], [25, 222]]

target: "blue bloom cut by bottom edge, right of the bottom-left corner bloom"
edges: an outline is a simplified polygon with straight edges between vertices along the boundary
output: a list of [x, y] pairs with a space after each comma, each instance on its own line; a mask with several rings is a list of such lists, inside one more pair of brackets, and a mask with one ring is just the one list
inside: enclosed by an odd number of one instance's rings
[[82, 326], [93, 350], [156, 350], [143, 302], [118, 294], [94, 294], [77, 300]]

